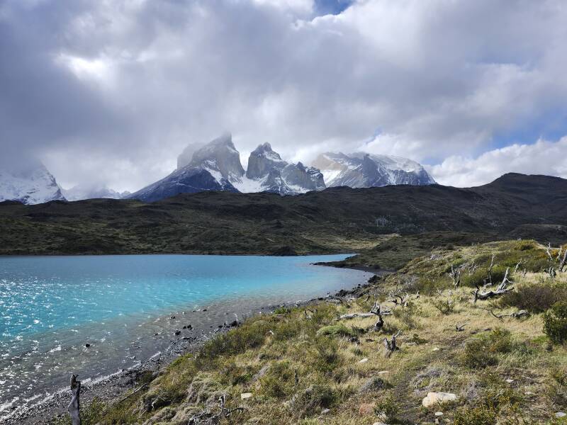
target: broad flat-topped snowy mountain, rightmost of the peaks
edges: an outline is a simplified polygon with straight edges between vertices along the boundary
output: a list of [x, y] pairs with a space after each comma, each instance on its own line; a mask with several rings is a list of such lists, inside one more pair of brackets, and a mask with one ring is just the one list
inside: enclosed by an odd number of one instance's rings
[[321, 170], [327, 187], [368, 188], [392, 184], [420, 186], [435, 183], [422, 165], [411, 159], [391, 155], [364, 152], [345, 155], [341, 152], [327, 152], [320, 154], [313, 166]]

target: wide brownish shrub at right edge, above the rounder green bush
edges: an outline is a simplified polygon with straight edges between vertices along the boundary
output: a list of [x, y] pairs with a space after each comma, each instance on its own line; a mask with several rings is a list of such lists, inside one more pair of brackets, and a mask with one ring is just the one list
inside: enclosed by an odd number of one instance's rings
[[567, 301], [567, 287], [564, 285], [520, 285], [515, 291], [500, 298], [500, 307], [517, 307], [532, 313], [541, 313], [556, 304]]

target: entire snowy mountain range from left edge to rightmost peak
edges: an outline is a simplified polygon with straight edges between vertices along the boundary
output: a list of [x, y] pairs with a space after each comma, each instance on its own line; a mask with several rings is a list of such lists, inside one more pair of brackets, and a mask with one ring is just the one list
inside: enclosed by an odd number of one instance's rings
[[0, 201], [36, 204], [50, 200], [130, 198], [154, 202], [179, 193], [203, 191], [271, 192], [283, 196], [337, 186], [369, 188], [435, 183], [423, 166], [410, 159], [361, 152], [349, 155], [328, 152], [315, 159], [313, 166], [305, 166], [301, 162], [286, 162], [269, 143], [259, 145], [250, 153], [245, 170], [230, 134], [218, 137], [192, 154], [189, 147], [184, 149], [177, 164], [177, 169], [164, 179], [135, 193], [119, 193], [100, 185], [79, 185], [65, 190], [43, 164], [34, 163], [18, 172], [0, 171]]

